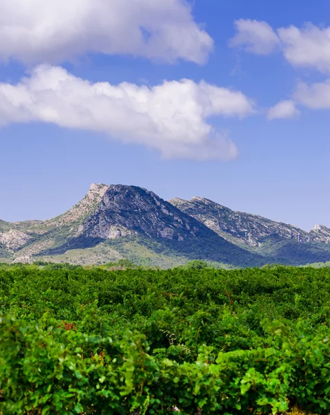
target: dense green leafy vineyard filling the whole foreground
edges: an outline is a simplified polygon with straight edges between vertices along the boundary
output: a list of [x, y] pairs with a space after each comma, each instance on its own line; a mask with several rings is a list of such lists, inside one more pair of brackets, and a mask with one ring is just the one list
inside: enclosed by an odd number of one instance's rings
[[330, 269], [195, 265], [2, 266], [1, 414], [329, 414]]

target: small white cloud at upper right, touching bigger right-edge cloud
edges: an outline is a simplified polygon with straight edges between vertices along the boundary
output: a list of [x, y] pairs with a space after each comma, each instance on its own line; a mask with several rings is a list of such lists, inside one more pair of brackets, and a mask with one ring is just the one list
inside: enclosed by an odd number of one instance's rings
[[279, 38], [266, 21], [239, 19], [235, 28], [237, 33], [230, 39], [231, 47], [241, 46], [257, 55], [269, 55], [279, 45]]

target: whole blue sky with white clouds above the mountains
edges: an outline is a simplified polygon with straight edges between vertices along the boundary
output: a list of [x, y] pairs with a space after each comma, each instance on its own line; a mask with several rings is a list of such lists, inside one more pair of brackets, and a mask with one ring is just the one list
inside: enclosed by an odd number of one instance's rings
[[0, 219], [91, 183], [330, 227], [328, 0], [1, 0]]

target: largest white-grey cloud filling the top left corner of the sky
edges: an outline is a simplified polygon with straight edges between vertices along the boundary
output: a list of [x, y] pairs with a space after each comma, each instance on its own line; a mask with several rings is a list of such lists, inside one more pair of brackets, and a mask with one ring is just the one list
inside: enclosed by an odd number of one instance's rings
[[185, 0], [0, 1], [0, 59], [55, 64], [92, 52], [202, 64], [212, 46]]

